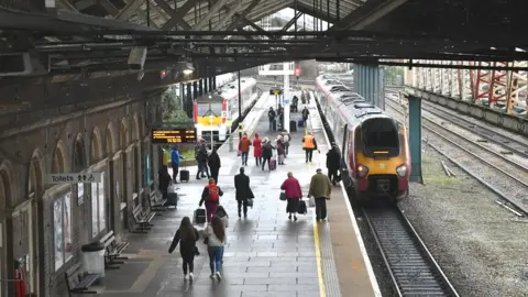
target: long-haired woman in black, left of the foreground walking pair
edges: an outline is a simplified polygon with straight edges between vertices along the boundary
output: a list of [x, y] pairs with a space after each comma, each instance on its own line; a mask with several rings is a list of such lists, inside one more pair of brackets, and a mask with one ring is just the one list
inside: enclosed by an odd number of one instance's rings
[[[174, 235], [173, 243], [168, 248], [168, 253], [172, 254], [176, 245], [179, 242], [179, 253], [184, 260], [184, 278], [193, 282], [195, 271], [195, 254], [197, 253], [196, 241], [200, 238], [196, 228], [190, 223], [189, 217], [182, 219], [179, 229]], [[187, 268], [189, 274], [187, 275]]]

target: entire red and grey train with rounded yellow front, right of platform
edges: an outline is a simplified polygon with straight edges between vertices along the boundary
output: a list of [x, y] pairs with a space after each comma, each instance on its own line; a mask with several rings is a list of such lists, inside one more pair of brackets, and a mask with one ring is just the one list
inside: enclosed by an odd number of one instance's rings
[[410, 152], [405, 125], [340, 80], [316, 78], [316, 97], [341, 153], [341, 177], [355, 204], [409, 195]]

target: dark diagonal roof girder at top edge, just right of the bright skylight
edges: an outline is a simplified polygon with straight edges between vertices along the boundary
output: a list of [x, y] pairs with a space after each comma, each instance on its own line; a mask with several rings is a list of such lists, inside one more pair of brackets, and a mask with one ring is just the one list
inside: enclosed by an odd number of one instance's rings
[[362, 30], [378, 21], [395, 9], [405, 4], [407, 0], [370, 0], [363, 6], [353, 10], [344, 16], [339, 28], [332, 26], [329, 30]]

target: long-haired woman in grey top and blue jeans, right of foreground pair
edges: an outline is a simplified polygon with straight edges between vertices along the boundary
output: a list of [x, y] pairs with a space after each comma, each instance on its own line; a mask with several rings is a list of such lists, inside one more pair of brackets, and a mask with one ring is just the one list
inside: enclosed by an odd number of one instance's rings
[[206, 237], [211, 278], [216, 276], [220, 280], [222, 279], [220, 272], [222, 268], [223, 246], [228, 242], [228, 237], [226, 235], [223, 222], [218, 216], [212, 216], [211, 223], [206, 228]]

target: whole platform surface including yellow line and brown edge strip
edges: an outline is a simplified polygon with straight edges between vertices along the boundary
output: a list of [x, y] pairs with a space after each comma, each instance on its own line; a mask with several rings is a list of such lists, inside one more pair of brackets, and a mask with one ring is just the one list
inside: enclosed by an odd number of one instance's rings
[[[266, 99], [265, 95], [261, 97], [244, 120], [244, 132], [252, 138], [255, 132], [261, 138], [276, 136], [267, 131], [265, 110], [271, 102]], [[167, 210], [156, 217], [148, 233], [129, 234], [130, 246], [125, 255], [130, 258], [119, 271], [107, 271], [105, 287], [99, 288], [97, 296], [381, 296], [341, 188], [334, 188], [328, 204], [328, 221], [320, 223], [316, 223], [312, 208], [306, 216], [299, 216], [298, 221], [289, 221], [286, 204], [278, 199], [279, 186], [287, 172], [293, 172], [299, 179], [306, 195], [316, 168], [324, 169], [328, 140], [315, 103], [310, 113], [308, 130], [314, 132], [320, 150], [320, 153], [315, 152], [312, 163], [305, 163], [300, 141], [304, 131], [292, 133], [286, 165], [277, 165], [276, 170], [262, 170], [250, 153], [245, 174], [251, 178], [256, 198], [246, 219], [237, 216], [233, 176], [241, 167], [237, 145], [232, 151], [229, 143], [219, 148], [222, 162], [219, 186], [224, 191], [220, 202], [230, 216], [221, 282], [209, 278], [208, 256], [201, 240], [198, 243], [201, 254], [195, 260], [195, 282], [191, 285], [184, 282], [177, 250], [167, 254], [182, 218], [193, 216], [207, 183], [193, 178], [197, 169], [194, 166], [189, 167], [191, 180], [178, 184], [180, 199], [177, 210]], [[296, 119], [300, 113], [292, 116]]]

